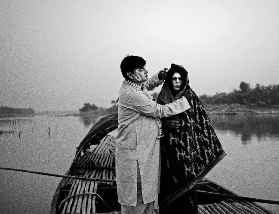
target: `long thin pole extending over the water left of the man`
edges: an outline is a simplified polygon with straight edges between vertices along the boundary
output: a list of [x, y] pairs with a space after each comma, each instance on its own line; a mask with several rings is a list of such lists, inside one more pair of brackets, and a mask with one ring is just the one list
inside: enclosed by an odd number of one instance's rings
[[72, 179], [79, 179], [79, 180], [86, 180], [86, 181], [116, 183], [116, 180], [113, 180], [113, 179], [78, 177], [78, 176], [71, 176], [71, 175], [58, 175], [58, 174], [52, 174], [52, 173], [36, 172], [36, 171], [30, 171], [30, 170], [25, 170], [25, 169], [13, 169], [13, 168], [4, 168], [4, 167], [0, 167], [0, 169], [20, 171], [20, 172], [28, 172], [28, 173], [39, 174], [39, 175], [48, 175], [48, 176], [52, 176], [52, 177], [64, 177], [64, 178], [72, 178]]

